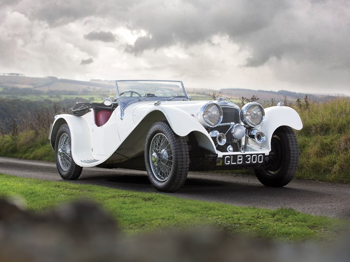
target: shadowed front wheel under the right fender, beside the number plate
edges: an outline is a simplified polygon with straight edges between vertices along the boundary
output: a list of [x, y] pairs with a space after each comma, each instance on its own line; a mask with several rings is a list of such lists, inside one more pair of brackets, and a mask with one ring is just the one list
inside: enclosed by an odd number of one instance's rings
[[273, 158], [261, 169], [255, 169], [258, 180], [265, 186], [282, 187], [291, 182], [299, 162], [299, 146], [293, 129], [277, 128], [271, 139]]

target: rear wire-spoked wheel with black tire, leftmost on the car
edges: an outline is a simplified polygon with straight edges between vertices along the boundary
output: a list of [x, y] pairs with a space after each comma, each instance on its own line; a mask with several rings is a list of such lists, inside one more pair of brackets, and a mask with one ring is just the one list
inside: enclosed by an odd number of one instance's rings
[[58, 128], [55, 140], [55, 159], [58, 173], [64, 180], [76, 180], [83, 167], [72, 158], [71, 132], [67, 124]]

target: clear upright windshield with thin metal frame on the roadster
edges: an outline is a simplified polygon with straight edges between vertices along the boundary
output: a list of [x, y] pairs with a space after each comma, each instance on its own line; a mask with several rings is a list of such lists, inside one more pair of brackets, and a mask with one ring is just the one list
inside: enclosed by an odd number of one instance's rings
[[115, 83], [120, 98], [187, 98], [181, 81], [117, 80]]

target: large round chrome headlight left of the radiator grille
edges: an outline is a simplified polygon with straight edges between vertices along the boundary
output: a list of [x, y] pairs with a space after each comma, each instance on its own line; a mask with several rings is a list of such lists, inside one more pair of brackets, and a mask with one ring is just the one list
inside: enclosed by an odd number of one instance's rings
[[199, 108], [199, 122], [205, 127], [215, 127], [222, 121], [222, 109], [217, 103], [206, 103]]

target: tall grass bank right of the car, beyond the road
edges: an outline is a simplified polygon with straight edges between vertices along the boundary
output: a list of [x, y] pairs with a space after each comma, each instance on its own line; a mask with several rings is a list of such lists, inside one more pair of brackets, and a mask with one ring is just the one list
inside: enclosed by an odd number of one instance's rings
[[297, 178], [350, 183], [350, 99], [312, 103], [298, 110], [300, 161]]

